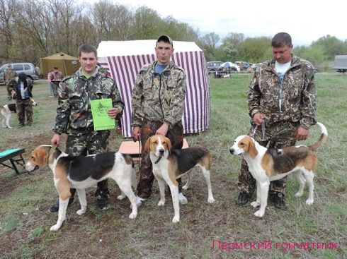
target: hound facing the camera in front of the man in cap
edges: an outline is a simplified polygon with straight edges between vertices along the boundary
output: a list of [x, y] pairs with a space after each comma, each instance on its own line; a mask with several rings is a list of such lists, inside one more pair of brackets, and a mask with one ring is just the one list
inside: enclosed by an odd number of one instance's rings
[[[195, 166], [200, 167], [205, 176], [208, 191], [208, 203], [214, 203], [210, 182], [210, 167], [212, 155], [204, 147], [194, 145], [193, 147], [182, 150], [171, 149], [171, 141], [164, 135], [153, 135], [148, 138], [144, 144], [144, 150], [149, 152], [149, 157], [153, 165], [153, 174], [158, 181], [160, 200], [158, 206], [165, 204], [165, 183], [169, 185], [172, 203], [174, 204], [174, 218], [172, 222], [180, 220], [179, 200], [178, 200], [178, 182], [176, 179], [186, 174], [189, 169]], [[191, 171], [188, 172], [188, 181], [184, 189], [187, 189], [191, 179]]]

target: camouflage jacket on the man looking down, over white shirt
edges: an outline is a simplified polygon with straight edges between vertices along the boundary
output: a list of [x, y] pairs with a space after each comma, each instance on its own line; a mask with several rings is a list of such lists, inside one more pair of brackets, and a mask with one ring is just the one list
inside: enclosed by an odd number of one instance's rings
[[266, 61], [258, 66], [249, 85], [249, 116], [253, 118], [261, 112], [267, 126], [278, 121], [300, 121], [300, 126], [309, 128], [316, 123], [316, 95], [313, 66], [309, 61], [292, 56], [282, 84], [275, 72], [275, 61]]

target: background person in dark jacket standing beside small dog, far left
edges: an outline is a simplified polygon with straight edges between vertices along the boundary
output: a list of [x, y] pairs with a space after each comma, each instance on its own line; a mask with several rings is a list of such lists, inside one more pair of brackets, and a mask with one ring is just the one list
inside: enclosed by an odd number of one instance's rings
[[33, 82], [21, 72], [18, 77], [12, 79], [8, 84], [13, 99], [16, 99], [16, 113], [18, 116], [18, 128], [25, 125], [25, 117], [28, 126], [33, 125], [33, 105], [30, 97], [33, 97]]

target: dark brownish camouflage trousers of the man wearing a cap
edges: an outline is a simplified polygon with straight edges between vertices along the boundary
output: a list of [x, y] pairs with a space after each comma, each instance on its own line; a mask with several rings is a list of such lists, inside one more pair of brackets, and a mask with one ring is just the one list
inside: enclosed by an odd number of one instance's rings
[[[152, 135], [155, 135], [158, 128], [163, 123], [160, 121], [148, 121], [144, 119], [141, 124], [140, 138], [142, 146], [146, 143], [147, 139]], [[181, 121], [175, 124], [174, 128], [169, 128], [166, 133], [166, 138], [169, 138], [172, 144], [172, 148], [181, 149], [183, 146], [183, 126]], [[149, 198], [152, 194], [152, 186], [154, 181], [152, 162], [149, 158], [149, 152], [142, 149], [141, 153], [141, 165], [140, 165], [140, 179], [137, 184], [137, 196], [141, 198]], [[182, 180], [178, 181], [178, 191], [181, 193]]]

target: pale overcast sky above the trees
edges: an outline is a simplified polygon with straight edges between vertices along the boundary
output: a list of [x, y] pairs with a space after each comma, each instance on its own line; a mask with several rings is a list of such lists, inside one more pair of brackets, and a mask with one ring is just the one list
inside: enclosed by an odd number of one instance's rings
[[342, 0], [109, 1], [123, 4], [133, 11], [147, 6], [162, 18], [172, 16], [198, 29], [199, 37], [210, 32], [215, 32], [221, 39], [229, 32], [243, 33], [245, 37], [273, 37], [277, 32], [288, 32], [294, 46], [309, 46], [326, 35], [347, 39], [347, 1]]

